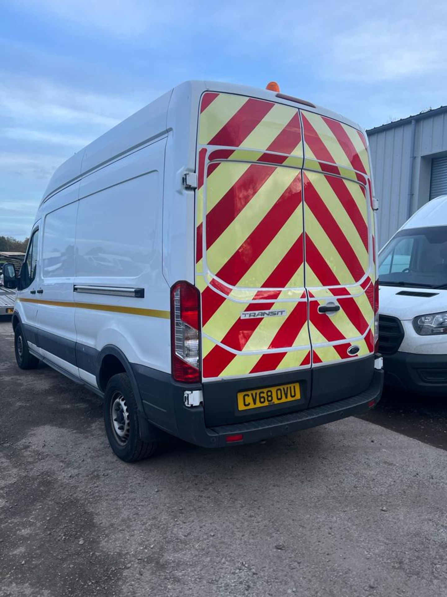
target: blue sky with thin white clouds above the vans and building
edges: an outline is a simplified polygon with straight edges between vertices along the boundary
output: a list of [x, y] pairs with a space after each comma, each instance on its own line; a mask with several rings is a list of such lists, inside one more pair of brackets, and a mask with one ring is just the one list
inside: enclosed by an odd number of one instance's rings
[[265, 87], [365, 128], [447, 103], [447, 3], [3, 0], [0, 235], [52, 171], [185, 79]]

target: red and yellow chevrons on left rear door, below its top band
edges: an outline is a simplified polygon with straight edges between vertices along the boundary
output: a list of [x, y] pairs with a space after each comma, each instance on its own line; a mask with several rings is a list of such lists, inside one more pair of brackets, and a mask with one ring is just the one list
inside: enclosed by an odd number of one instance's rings
[[[197, 279], [203, 376], [310, 365], [300, 170], [229, 161], [219, 172], [219, 183], [218, 170], [207, 177], [206, 275]], [[272, 309], [286, 315], [241, 319]]]

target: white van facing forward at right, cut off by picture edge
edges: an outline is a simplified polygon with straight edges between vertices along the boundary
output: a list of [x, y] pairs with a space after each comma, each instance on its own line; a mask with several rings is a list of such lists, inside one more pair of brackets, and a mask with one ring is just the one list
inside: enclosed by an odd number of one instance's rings
[[420, 208], [379, 255], [386, 382], [447, 393], [447, 195]]

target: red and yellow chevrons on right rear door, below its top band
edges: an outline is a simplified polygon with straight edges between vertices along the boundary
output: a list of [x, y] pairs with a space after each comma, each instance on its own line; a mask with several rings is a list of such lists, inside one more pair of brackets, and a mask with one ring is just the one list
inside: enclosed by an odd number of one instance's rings
[[[367, 355], [374, 351], [374, 284], [370, 275], [365, 278], [371, 246], [365, 188], [316, 172], [303, 174], [303, 186], [313, 363]], [[318, 313], [330, 297], [340, 311]], [[347, 353], [352, 343], [360, 349], [355, 356]]]

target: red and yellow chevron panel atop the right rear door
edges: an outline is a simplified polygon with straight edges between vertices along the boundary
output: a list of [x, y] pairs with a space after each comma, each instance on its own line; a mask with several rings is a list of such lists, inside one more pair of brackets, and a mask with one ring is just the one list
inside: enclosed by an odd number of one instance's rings
[[305, 139], [305, 168], [358, 180], [370, 176], [368, 148], [363, 134], [347, 124], [301, 111]]

